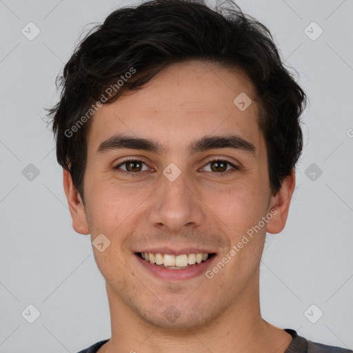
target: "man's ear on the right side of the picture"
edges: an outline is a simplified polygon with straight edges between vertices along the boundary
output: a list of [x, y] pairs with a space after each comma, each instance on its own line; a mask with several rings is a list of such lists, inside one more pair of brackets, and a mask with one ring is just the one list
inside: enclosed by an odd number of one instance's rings
[[269, 211], [275, 209], [276, 214], [274, 214], [274, 212], [272, 213], [273, 217], [266, 225], [266, 232], [277, 234], [285, 227], [294, 187], [295, 174], [294, 170], [292, 170], [291, 174], [283, 179], [279, 192], [277, 192], [274, 196], [271, 196]]

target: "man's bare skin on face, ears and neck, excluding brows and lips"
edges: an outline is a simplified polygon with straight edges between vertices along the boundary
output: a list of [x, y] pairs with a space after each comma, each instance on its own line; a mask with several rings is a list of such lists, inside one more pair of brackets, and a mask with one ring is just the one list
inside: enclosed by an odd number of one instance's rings
[[[243, 112], [233, 103], [241, 92], [252, 99]], [[110, 240], [103, 252], [93, 247], [112, 325], [112, 338], [99, 353], [281, 353], [290, 345], [290, 334], [261, 318], [259, 265], [266, 232], [285, 226], [295, 177], [292, 172], [272, 195], [258, 116], [248, 77], [205, 61], [171, 65], [142, 90], [126, 92], [95, 114], [87, 140], [85, 204], [66, 170], [63, 185], [74, 230], [91, 234], [92, 241], [101, 233]], [[230, 132], [253, 143], [256, 153], [216, 148], [190, 156], [186, 150], [205, 135]], [[158, 141], [165, 150], [161, 155], [110, 150], [97, 157], [100, 143], [117, 133]], [[124, 157], [143, 161], [143, 171], [119, 174], [114, 166]], [[219, 177], [210, 157], [241, 169], [228, 165], [234, 172]], [[163, 175], [170, 163], [181, 170], [174, 181]], [[157, 279], [134, 254], [139, 247], [192, 245], [215, 250], [218, 263], [272, 209], [276, 215], [212, 279], [204, 274], [179, 282]], [[174, 322], [163, 314], [170, 305], [180, 314]]]

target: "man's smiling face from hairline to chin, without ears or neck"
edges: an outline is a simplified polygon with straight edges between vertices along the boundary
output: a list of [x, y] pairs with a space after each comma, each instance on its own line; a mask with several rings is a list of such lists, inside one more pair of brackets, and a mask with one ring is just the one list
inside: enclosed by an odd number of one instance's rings
[[[245, 110], [233, 103], [242, 92], [252, 99]], [[254, 303], [275, 218], [259, 227], [275, 199], [258, 118], [247, 77], [201, 61], [172, 65], [98, 110], [81, 217], [92, 241], [99, 234], [110, 241], [103, 252], [93, 248], [110, 302], [176, 329]], [[74, 228], [82, 232], [75, 221]], [[192, 254], [210, 255], [177, 270], [142, 259], [145, 252], [172, 255], [164, 261], [177, 259], [179, 268], [199, 259]]]

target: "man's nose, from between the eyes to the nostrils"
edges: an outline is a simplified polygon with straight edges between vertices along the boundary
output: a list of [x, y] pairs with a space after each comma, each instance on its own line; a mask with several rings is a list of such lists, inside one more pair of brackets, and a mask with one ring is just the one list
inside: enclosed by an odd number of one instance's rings
[[205, 219], [205, 205], [185, 172], [170, 181], [161, 174], [160, 186], [152, 194], [148, 220], [154, 227], [170, 234], [181, 234], [184, 228], [198, 227]]

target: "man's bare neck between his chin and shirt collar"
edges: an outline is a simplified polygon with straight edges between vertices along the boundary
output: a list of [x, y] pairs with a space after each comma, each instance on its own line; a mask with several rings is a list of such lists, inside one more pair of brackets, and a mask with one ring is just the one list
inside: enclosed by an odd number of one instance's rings
[[112, 337], [99, 353], [283, 353], [292, 340], [290, 334], [261, 318], [259, 285], [252, 292], [243, 293], [208, 325], [186, 330], [146, 323], [119, 299], [108, 283], [106, 287]]

